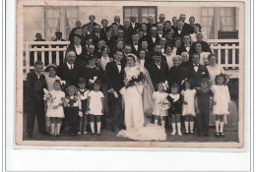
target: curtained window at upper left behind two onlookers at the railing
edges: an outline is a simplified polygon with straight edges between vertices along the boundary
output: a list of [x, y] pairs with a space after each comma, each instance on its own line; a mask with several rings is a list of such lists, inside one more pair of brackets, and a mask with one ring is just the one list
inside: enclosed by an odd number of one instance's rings
[[63, 38], [68, 40], [71, 29], [76, 27], [76, 21], [79, 19], [78, 8], [45, 8], [45, 39], [55, 38], [55, 31], [61, 31]]

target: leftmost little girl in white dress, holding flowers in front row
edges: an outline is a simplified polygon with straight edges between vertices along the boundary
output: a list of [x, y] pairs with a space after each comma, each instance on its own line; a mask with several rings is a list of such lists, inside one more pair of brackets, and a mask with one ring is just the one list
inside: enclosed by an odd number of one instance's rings
[[47, 113], [46, 117], [50, 118], [50, 135], [60, 136], [61, 120], [64, 118], [63, 105], [65, 101], [65, 93], [60, 89], [61, 83], [56, 80], [53, 84], [53, 89], [47, 93]]

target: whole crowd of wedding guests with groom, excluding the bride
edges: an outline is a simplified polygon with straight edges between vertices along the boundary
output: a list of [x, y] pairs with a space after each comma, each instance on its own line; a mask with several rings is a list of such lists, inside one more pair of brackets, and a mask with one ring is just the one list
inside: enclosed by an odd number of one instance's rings
[[[44, 64], [37, 54], [26, 82], [30, 138], [35, 115], [39, 132], [51, 136], [60, 136], [65, 127], [70, 136], [88, 134], [89, 130], [100, 135], [106, 118], [112, 132], [125, 128], [119, 90], [124, 86], [130, 54], [149, 71], [156, 90], [152, 123], [171, 128], [171, 135], [182, 136], [184, 125], [184, 134], [197, 131], [198, 136], [209, 136], [209, 126], [216, 126], [216, 137], [224, 136], [224, 115], [229, 114], [230, 102], [227, 78], [194, 17], [187, 24], [184, 14], [173, 17], [172, 22], [160, 14], [156, 24], [152, 16], [147, 24], [139, 24], [131, 16], [122, 26], [120, 17], [115, 16], [110, 26], [103, 19], [102, 27], [95, 23], [94, 15], [89, 20], [83, 26], [76, 22], [67, 53], [59, 54], [58, 66], [54, 64], [56, 53], [53, 64], [45, 58], [48, 75], [41, 74]], [[35, 36], [35, 41], [44, 41], [40, 33]], [[57, 31], [53, 41], [65, 41], [62, 32]]]

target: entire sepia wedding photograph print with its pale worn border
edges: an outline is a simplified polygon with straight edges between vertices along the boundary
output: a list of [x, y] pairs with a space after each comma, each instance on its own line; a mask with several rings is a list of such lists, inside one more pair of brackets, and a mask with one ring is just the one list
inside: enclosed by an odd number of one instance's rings
[[15, 143], [243, 148], [244, 2], [17, 1]]

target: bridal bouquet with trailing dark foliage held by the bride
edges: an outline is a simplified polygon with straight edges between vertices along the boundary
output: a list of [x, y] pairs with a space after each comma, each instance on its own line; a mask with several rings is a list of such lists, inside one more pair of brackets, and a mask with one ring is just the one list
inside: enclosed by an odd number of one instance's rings
[[137, 83], [143, 82], [145, 77], [140, 68], [136, 69], [133, 73], [126, 76], [125, 88], [129, 86], [135, 86]]

